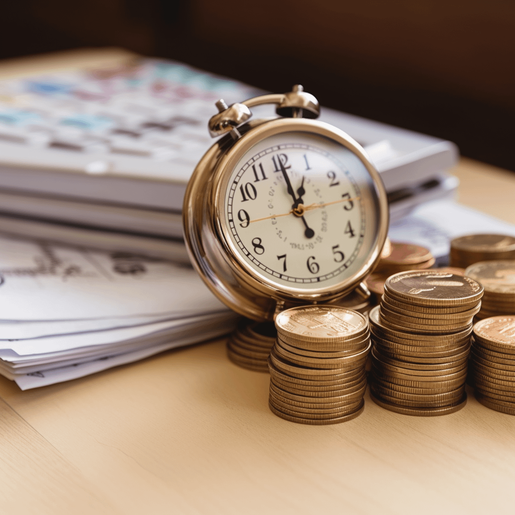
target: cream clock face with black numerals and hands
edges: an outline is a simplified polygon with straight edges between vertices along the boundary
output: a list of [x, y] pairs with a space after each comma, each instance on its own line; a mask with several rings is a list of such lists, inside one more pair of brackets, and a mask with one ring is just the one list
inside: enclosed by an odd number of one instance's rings
[[225, 184], [220, 215], [233, 253], [274, 287], [333, 287], [358, 273], [376, 245], [372, 177], [353, 152], [325, 136], [265, 138]]

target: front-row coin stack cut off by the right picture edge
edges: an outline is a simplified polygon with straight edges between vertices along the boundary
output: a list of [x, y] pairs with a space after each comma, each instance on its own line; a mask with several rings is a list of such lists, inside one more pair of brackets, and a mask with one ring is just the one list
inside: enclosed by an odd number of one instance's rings
[[469, 384], [485, 406], [515, 415], [515, 316], [474, 325]]

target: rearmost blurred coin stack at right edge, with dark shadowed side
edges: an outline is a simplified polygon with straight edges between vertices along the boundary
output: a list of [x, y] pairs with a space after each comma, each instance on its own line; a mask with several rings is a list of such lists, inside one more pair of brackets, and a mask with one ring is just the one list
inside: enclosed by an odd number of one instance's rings
[[470, 234], [451, 241], [451, 266], [515, 259], [515, 238], [505, 234]]

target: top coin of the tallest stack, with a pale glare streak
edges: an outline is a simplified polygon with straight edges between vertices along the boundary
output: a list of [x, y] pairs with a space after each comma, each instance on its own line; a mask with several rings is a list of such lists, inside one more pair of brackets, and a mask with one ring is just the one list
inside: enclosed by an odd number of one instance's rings
[[418, 270], [390, 276], [385, 282], [385, 293], [423, 306], [456, 306], [480, 300], [483, 286], [469, 277]]

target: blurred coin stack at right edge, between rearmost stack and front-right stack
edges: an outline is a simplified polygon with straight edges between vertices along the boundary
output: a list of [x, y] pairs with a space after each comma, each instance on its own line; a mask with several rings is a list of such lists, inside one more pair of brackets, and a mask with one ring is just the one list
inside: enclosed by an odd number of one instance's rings
[[476, 320], [515, 315], [515, 261], [482, 261], [465, 273], [485, 288]]

